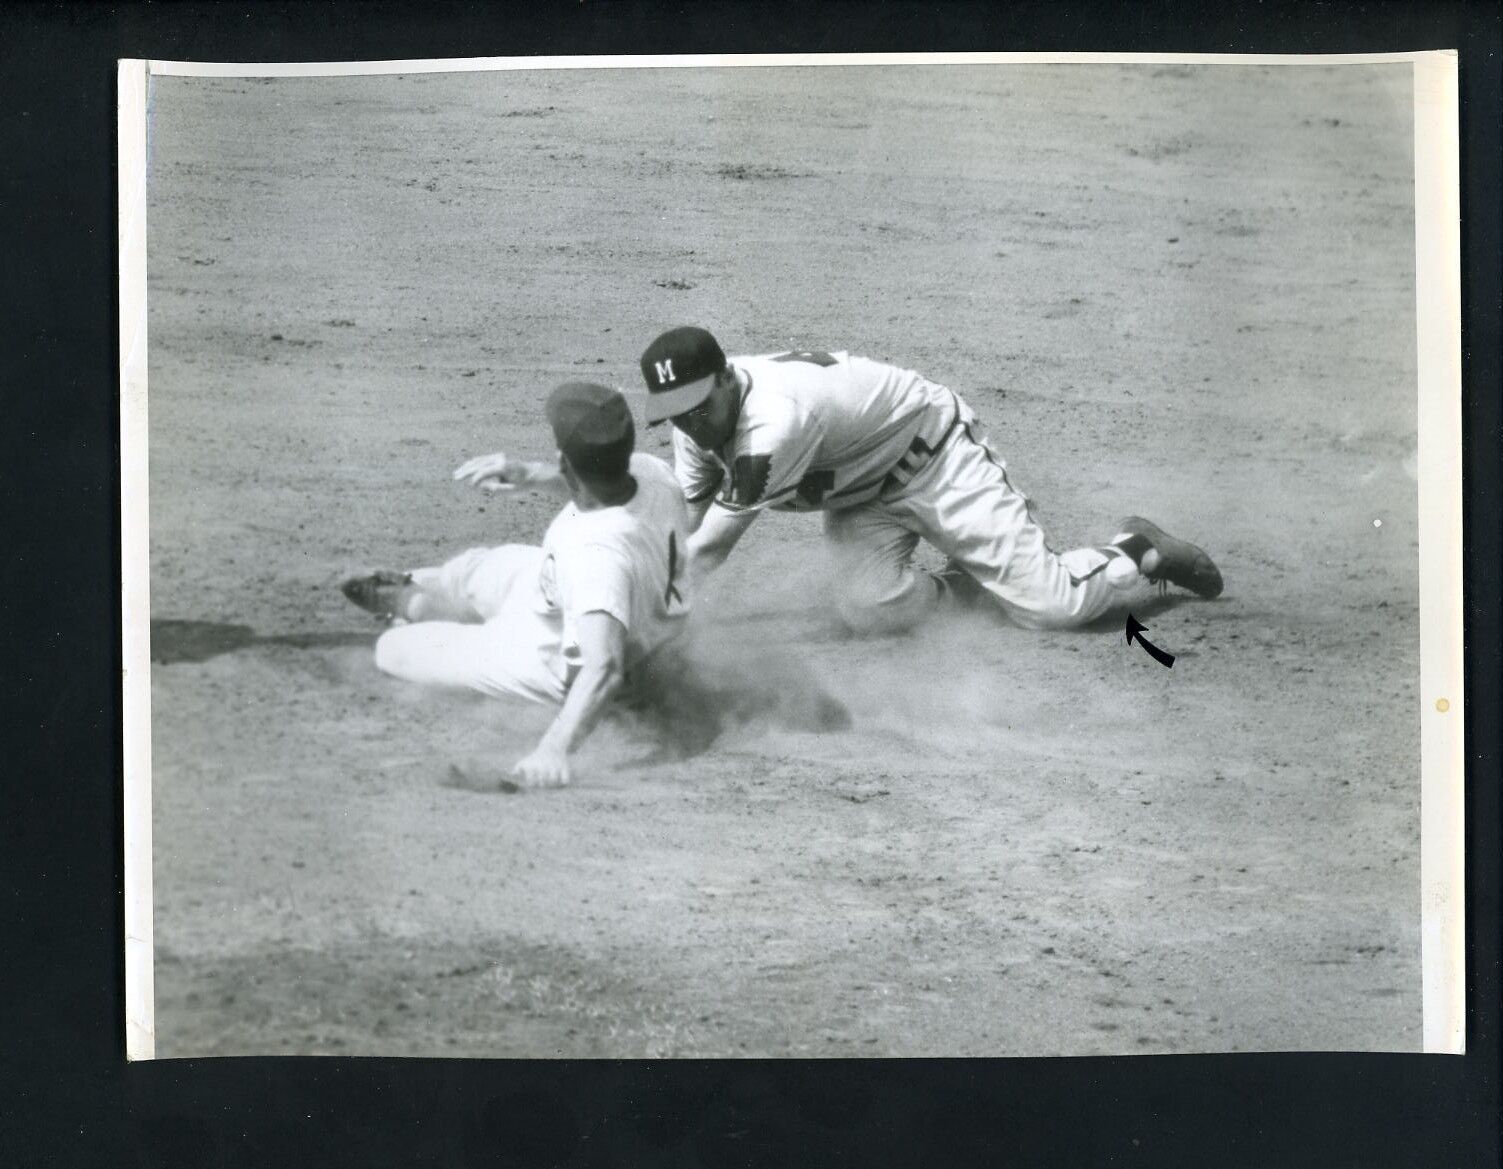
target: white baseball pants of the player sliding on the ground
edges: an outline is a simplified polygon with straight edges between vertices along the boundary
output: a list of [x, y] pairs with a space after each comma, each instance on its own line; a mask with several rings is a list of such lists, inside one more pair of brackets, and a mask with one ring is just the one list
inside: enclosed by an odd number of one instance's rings
[[412, 583], [413, 621], [376, 642], [376, 666], [424, 685], [529, 702], [564, 700], [559, 625], [543, 613], [543, 548], [470, 548]]

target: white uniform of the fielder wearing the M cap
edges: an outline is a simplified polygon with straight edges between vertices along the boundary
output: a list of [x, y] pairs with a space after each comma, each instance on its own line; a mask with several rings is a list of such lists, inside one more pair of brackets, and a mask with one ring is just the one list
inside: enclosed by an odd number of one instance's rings
[[824, 511], [842, 610], [858, 628], [906, 628], [938, 598], [912, 563], [927, 539], [1019, 625], [1084, 625], [1151, 595], [1120, 548], [1055, 553], [957, 394], [849, 353], [730, 358], [735, 433], [718, 451], [673, 431], [690, 503], [730, 511]]

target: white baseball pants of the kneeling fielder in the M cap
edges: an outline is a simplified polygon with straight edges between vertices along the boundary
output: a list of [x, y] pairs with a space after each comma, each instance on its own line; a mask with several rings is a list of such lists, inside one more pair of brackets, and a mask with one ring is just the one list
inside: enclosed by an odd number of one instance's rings
[[1015, 624], [1031, 630], [1075, 628], [1153, 595], [1120, 548], [1054, 551], [980, 422], [962, 410], [948, 440], [900, 490], [825, 512], [848, 624], [897, 631], [927, 615], [939, 591], [912, 563], [920, 539], [962, 565]]

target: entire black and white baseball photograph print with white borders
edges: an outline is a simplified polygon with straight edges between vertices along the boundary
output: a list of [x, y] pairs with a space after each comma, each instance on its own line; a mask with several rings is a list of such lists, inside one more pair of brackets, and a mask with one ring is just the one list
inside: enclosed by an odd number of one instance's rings
[[1455, 114], [125, 62], [132, 1056], [1459, 1050]]

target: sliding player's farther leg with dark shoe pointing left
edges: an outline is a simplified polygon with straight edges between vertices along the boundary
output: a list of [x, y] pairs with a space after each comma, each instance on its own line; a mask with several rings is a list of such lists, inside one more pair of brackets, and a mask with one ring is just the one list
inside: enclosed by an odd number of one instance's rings
[[355, 577], [340, 589], [353, 604], [392, 621], [479, 624], [538, 588], [541, 568], [543, 548], [502, 544], [469, 548], [433, 568]]

